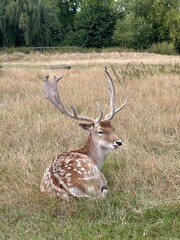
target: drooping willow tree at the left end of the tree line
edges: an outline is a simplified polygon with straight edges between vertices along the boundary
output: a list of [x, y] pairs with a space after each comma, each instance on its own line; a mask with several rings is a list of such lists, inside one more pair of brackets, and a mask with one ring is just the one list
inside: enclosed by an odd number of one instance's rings
[[56, 12], [44, 0], [6, 0], [1, 12], [3, 45], [53, 44], [53, 34], [59, 30], [59, 22]]

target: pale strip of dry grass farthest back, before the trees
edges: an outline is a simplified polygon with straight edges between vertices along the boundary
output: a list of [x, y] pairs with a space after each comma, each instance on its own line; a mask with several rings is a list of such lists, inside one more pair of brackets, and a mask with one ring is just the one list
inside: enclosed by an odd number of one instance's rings
[[13, 53], [1, 54], [0, 63], [6, 67], [9, 63], [23, 65], [70, 64], [72, 66], [87, 66], [105, 64], [175, 64], [179, 63], [179, 56], [160, 55], [153, 53], [102, 52], [102, 53]]

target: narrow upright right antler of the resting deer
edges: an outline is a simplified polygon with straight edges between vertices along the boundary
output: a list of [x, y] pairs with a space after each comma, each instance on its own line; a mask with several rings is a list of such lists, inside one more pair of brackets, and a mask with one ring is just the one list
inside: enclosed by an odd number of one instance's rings
[[114, 83], [113, 83], [112, 77], [111, 77], [111, 75], [108, 72], [106, 67], [104, 69], [104, 72], [105, 72], [105, 74], [106, 74], [106, 76], [109, 80], [109, 83], [110, 83], [110, 86], [108, 87], [109, 91], [110, 91], [110, 113], [108, 113], [104, 117], [104, 119], [110, 121], [117, 112], [120, 112], [126, 106], [126, 104], [128, 103], [128, 98], [126, 98], [125, 102], [120, 107], [115, 109], [115, 87], [114, 87]]

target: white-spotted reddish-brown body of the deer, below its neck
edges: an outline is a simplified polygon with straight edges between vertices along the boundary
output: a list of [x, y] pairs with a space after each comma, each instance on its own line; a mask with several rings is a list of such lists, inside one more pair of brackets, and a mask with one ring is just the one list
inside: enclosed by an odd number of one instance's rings
[[78, 152], [57, 156], [46, 169], [41, 191], [57, 196], [102, 197], [106, 180], [93, 159]]

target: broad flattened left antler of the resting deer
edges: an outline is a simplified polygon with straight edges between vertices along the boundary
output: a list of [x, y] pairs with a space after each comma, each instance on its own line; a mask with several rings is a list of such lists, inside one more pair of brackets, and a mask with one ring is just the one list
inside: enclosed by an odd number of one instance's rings
[[88, 121], [88, 122], [94, 122], [94, 119], [89, 117], [80, 116], [77, 114], [77, 111], [74, 107], [71, 107], [72, 112], [68, 111], [67, 108], [64, 106], [64, 104], [61, 101], [61, 98], [58, 93], [57, 84], [61, 77], [54, 76], [53, 82], [48, 81], [49, 76], [46, 76], [44, 79], [44, 90], [46, 94], [46, 98], [56, 107], [60, 110], [62, 114], [67, 115], [70, 118], [74, 118], [76, 120], [81, 121]]

